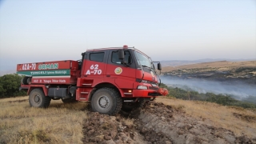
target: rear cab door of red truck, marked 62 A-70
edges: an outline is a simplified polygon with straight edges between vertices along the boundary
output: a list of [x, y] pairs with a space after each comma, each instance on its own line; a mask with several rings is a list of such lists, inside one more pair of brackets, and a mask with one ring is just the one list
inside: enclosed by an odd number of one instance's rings
[[106, 51], [92, 51], [83, 60], [83, 78], [103, 78], [106, 75]]

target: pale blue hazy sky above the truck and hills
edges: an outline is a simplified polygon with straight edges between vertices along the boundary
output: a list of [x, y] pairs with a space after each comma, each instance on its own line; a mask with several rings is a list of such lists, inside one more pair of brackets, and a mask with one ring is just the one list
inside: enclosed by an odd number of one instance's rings
[[125, 44], [158, 61], [256, 58], [256, 1], [0, 1], [0, 70]]

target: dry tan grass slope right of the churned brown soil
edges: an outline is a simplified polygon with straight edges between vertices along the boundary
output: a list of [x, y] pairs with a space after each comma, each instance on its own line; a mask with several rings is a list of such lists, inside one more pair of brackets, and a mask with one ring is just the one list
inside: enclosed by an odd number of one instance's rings
[[157, 98], [156, 102], [162, 102], [170, 106], [183, 106], [182, 110], [194, 118], [202, 118], [205, 122], [231, 130], [237, 136], [243, 134], [256, 137], [256, 113], [238, 107], [221, 106], [211, 102], [184, 101], [176, 98]]

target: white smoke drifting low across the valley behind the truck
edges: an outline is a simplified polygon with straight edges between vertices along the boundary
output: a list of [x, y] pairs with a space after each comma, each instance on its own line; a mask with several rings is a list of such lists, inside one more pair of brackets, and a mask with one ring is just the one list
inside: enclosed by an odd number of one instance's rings
[[198, 93], [230, 94], [233, 98], [242, 100], [248, 96], [256, 97], [256, 86], [244, 82], [215, 82], [201, 79], [182, 79], [171, 76], [162, 76], [162, 83], [178, 87], [184, 90], [187, 88], [198, 91]]

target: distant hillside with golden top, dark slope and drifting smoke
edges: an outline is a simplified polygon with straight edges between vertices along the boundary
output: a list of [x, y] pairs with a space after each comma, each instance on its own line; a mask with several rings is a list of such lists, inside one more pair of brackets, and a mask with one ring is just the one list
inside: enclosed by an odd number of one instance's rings
[[256, 61], [204, 62], [162, 69], [162, 82], [174, 88], [229, 94], [238, 100], [256, 97]]

